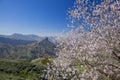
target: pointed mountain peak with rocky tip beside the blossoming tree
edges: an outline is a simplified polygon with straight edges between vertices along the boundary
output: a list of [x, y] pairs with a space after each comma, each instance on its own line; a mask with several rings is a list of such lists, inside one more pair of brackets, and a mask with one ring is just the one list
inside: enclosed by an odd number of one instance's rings
[[56, 45], [45, 38], [39, 43], [36, 43], [31, 52], [35, 54], [35, 58], [40, 57], [55, 57]]

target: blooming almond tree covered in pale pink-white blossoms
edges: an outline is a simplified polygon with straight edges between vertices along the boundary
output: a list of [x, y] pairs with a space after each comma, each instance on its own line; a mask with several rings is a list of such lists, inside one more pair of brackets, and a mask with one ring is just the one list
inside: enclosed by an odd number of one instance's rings
[[76, 0], [48, 80], [120, 80], [120, 0]]

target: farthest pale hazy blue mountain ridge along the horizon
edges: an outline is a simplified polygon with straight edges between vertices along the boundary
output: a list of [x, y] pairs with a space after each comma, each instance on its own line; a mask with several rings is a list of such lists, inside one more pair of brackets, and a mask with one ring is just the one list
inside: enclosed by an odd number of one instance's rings
[[39, 37], [34, 34], [23, 35], [23, 34], [18, 34], [18, 33], [14, 33], [12, 35], [0, 35], [0, 37], [17, 39], [17, 40], [28, 40], [28, 41], [41, 41], [43, 39], [43, 37]]

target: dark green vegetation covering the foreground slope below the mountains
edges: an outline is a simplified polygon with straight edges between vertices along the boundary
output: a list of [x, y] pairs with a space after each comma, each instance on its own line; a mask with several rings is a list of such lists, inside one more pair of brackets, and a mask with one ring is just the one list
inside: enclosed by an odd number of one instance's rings
[[44, 69], [26, 60], [0, 60], [0, 80], [42, 80]]

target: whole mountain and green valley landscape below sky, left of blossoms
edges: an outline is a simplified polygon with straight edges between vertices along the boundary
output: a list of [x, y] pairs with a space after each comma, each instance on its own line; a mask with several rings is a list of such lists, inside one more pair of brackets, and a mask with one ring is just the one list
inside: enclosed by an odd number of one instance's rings
[[0, 36], [0, 80], [42, 80], [49, 59], [56, 57], [55, 43], [15, 37]]

